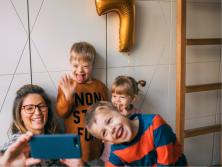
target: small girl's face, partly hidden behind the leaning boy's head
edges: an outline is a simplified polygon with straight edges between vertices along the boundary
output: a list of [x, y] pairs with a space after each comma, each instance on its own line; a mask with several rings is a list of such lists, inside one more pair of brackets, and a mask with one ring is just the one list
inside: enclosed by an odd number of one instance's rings
[[128, 95], [112, 93], [111, 101], [122, 115], [127, 116], [127, 108], [129, 108], [130, 104], [133, 104], [134, 98]]

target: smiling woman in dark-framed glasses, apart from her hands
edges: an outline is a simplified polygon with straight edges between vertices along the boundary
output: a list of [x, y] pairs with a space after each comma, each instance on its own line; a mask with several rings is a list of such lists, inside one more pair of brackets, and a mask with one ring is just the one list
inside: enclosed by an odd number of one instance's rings
[[[34, 135], [55, 133], [51, 101], [44, 89], [37, 85], [25, 85], [17, 93], [13, 104], [12, 135], [0, 150], [6, 151], [21, 134], [30, 131]], [[59, 160], [42, 161], [40, 166], [62, 165]]]

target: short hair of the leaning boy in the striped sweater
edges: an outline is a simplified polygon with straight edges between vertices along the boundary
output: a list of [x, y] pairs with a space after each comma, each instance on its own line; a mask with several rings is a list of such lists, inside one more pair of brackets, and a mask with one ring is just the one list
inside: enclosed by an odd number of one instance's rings
[[112, 105], [111, 102], [108, 101], [99, 101], [93, 105], [91, 105], [86, 112], [85, 116], [85, 125], [86, 127], [91, 127], [93, 122], [95, 121], [95, 116], [99, 112], [110, 112], [115, 111], [116, 108]]

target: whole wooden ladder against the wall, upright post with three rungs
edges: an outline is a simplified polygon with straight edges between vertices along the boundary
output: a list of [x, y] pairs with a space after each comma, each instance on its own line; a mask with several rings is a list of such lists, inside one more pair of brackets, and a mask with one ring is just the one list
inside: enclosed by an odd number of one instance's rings
[[184, 145], [184, 138], [221, 131], [221, 124], [185, 130], [186, 93], [221, 89], [221, 83], [186, 85], [186, 46], [221, 45], [221, 38], [186, 39], [186, 0], [177, 0], [176, 17], [176, 135]]

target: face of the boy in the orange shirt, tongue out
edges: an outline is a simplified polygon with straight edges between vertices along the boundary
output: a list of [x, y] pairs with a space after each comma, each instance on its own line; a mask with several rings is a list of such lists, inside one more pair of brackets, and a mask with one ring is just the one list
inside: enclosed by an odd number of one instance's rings
[[77, 83], [87, 83], [91, 80], [92, 63], [83, 60], [72, 60], [73, 79]]

